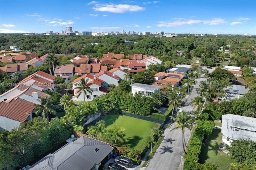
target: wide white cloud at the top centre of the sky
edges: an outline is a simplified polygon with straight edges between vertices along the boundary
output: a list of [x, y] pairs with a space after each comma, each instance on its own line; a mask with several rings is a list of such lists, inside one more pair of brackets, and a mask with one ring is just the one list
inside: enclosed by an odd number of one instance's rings
[[145, 8], [138, 5], [127, 5], [127, 4], [96, 4], [94, 8], [95, 11], [101, 12], [113, 12], [113, 13], [125, 13], [125, 12], [137, 12], [143, 11]]

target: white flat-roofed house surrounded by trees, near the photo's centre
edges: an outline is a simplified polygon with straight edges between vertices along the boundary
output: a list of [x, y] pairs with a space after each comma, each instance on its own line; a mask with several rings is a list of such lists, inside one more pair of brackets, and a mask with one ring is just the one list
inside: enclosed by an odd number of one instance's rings
[[141, 92], [145, 96], [149, 96], [151, 93], [154, 93], [156, 91], [159, 91], [161, 86], [155, 86], [155, 85], [146, 85], [141, 83], [133, 83], [130, 85], [132, 87], [132, 94], [134, 95], [136, 92]]

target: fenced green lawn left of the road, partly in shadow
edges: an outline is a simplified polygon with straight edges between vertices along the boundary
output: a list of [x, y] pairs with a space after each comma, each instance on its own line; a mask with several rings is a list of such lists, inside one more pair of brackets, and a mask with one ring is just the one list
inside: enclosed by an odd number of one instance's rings
[[108, 115], [100, 117], [90, 123], [88, 126], [94, 126], [99, 120], [106, 122], [107, 128], [113, 128], [114, 125], [125, 129], [124, 139], [125, 142], [114, 144], [116, 146], [126, 145], [128, 148], [135, 148], [143, 150], [146, 146], [146, 138], [150, 135], [151, 129], [158, 128], [159, 123], [144, 121], [124, 115]]

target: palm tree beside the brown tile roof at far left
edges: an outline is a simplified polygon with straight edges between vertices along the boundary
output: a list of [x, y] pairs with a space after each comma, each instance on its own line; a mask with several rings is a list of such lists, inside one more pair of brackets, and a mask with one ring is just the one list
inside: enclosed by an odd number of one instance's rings
[[43, 118], [47, 117], [47, 119], [49, 119], [49, 114], [56, 114], [56, 111], [54, 109], [57, 109], [58, 106], [55, 106], [51, 103], [50, 100], [47, 99], [47, 97], [42, 97], [41, 98], [41, 103], [39, 104], [35, 104], [35, 109], [36, 115], [42, 115]]

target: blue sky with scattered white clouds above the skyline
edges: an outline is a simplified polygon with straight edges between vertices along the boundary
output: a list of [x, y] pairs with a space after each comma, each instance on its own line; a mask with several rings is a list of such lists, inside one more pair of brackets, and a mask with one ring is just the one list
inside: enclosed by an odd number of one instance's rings
[[82, 31], [256, 35], [256, 0], [0, 0], [0, 33]]

